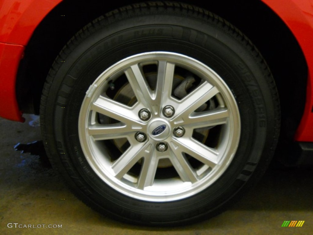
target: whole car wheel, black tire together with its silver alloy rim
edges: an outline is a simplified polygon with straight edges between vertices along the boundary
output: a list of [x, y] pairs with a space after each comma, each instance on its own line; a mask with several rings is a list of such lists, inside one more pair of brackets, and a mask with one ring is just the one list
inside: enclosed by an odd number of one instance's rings
[[[160, 94], [156, 80], [164, 60], [166, 73], [173, 64], [175, 71], [159, 81], [170, 77], [172, 92], [164, 92], [153, 111], [145, 88]], [[135, 82], [141, 75], [144, 85]], [[208, 84], [217, 89], [211, 96], [203, 90], [211, 89]], [[196, 96], [209, 99], [199, 107]], [[166, 105], [172, 106], [167, 113]], [[197, 119], [196, 130], [186, 121], [224, 111], [213, 121]], [[106, 13], [69, 41], [47, 77], [41, 124], [53, 165], [87, 205], [125, 222], [173, 225], [223, 211], [262, 175], [275, 150], [280, 114], [269, 68], [238, 29], [192, 5], [153, 2]], [[101, 126], [108, 131], [88, 132]], [[125, 133], [113, 133], [118, 127]], [[134, 150], [145, 143], [150, 147], [142, 151], [149, 154]], [[210, 151], [210, 158], [203, 156]]]

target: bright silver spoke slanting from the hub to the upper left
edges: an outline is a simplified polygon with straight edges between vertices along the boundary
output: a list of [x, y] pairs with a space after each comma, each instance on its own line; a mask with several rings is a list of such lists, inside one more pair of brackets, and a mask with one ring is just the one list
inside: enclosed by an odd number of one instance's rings
[[138, 114], [134, 112], [133, 108], [103, 96], [100, 96], [91, 105], [91, 110], [119, 120], [127, 125], [138, 125], [140, 123]]

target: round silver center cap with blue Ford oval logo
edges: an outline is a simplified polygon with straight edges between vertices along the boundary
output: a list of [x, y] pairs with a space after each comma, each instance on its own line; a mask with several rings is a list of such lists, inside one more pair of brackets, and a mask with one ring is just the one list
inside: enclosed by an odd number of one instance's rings
[[170, 133], [169, 123], [163, 119], [154, 119], [149, 124], [148, 133], [150, 138], [154, 140], [164, 140]]

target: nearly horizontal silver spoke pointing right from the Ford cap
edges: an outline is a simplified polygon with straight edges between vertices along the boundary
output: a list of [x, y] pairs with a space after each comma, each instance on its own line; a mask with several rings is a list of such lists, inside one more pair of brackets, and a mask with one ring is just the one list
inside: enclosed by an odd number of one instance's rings
[[227, 123], [228, 118], [228, 109], [220, 107], [206, 112], [194, 112], [180, 125], [188, 125], [194, 129], [211, 127]]

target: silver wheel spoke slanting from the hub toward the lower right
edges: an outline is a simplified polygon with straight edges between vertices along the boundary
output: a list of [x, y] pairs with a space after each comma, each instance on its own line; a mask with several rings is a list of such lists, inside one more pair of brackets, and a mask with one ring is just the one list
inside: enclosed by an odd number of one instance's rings
[[209, 167], [213, 168], [218, 163], [218, 152], [196, 140], [179, 138], [178, 140], [173, 140], [173, 142], [175, 146], [178, 146], [181, 153], [189, 154]]

